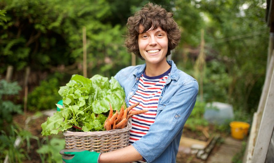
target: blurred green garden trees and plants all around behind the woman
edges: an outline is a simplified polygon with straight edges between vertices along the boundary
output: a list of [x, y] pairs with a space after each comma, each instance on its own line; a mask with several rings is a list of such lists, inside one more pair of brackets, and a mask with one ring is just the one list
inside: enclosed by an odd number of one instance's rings
[[[182, 39], [172, 51], [172, 60], [199, 82], [199, 96], [187, 121], [191, 131], [197, 131], [195, 126], [209, 125], [203, 113], [205, 104], [212, 101], [233, 105], [233, 120], [251, 124], [266, 73], [269, 38], [266, 2], [151, 2], [173, 12]], [[111, 78], [130, 66], [132, 55], [124, 46], [127, 18], [146, 3], [144, 0], [0, 0], [1, 162], [6, 155], [10, 162], [60, 160], [62, 135], [35, 135], [14, 118], [36, 116], [36, 123], [42, 124], [45, 118], [41, 111], [56, 108], [61, 99], [59, 87], [73, 74], [83, 75], [83, 27], [88, 78], [95, 74]], [[136, 59], [136, 64], [143, 63]], [[7, 81], [9, 66], [13, 66], [13, 73]], [[27, 82], [26, 70], [30, 70]], [[228, 124], [214, 129], [230, 132]], [[22, 140], [21, 148], [14, 147], [18, 137]]]

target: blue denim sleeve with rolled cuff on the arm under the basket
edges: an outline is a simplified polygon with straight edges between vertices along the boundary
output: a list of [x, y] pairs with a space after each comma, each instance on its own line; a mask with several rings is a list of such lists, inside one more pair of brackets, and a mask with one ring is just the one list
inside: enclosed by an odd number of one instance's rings
[[132, 144], [148, 163], [159, 157], [182, 131], [195, 105], [198, 94], [196, 80], [177, 85], [177, 88], [179, 89], [174, 92], [170, 100], [163, 104], [164, 109], [157, 110], [157, 118], [150, 126], [149, 132]]

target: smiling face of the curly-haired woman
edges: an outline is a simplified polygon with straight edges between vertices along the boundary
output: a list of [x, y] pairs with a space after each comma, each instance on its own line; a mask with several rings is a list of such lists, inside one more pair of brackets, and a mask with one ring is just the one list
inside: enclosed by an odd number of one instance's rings
[[[152, 27], [151, 27], [152, 28]], [[143, 26], [139, 26], [139, 33], [143, 32]], [[148, 30], [138, 36], [138, 45], [141, 56], [147, 64], [161, 64], [166, 62], [168, 49], [167, 32], [161, 27]]]

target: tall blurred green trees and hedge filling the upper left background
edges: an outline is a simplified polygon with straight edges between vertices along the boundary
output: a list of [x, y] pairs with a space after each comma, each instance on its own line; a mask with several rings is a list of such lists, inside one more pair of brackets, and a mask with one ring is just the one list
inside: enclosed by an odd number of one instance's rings
[[1, 63], [0, 73], [8, 65], [16, 70], [28, 65], [32, 70], [45, 71], [60, 64], [82, 63], [83, 26], [90, 76], [114, 76], [117, 71], [113, 67], [129, 65], [130, 55], [121, 46], [126, 28], [106, 21], [115, 15], [106, 0], [4, 0], [0, 6], [6, 10], [7, 19], [0, 26], [0, 57], [6, 61]]

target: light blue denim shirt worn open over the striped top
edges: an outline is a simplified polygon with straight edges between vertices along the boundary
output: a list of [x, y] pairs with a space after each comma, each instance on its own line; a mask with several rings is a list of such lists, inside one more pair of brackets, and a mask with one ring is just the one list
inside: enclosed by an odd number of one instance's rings
[[[132, 144], [148, 163], [176, 162], [183, 126], [198, 94], [198, 82], [178, 70], [173, 61], [167, 62], [171, 65], [171, 72], [159, 98], [155, 122], [146, 135]], [[145, 64], [129, 66], [114, 77], [126, 92], [127, 105], [138, 89], [145, 67]]]

